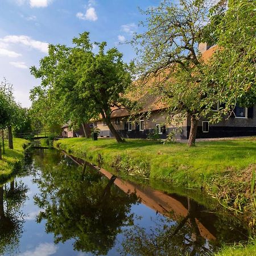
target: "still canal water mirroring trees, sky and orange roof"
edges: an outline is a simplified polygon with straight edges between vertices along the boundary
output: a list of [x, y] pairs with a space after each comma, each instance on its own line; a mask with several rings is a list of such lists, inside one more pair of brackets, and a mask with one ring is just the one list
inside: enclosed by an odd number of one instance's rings
[[1, 255], [208, 255], [249, 236], [201, 192], [124, 181], [57, 150], [25, 160], [0, 188]]

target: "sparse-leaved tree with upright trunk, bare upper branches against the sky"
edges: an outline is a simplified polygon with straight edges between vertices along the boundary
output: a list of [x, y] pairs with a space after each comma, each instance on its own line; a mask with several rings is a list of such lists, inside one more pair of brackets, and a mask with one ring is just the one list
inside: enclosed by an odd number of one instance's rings
[[138, 55], [135, 72], [141, 76], [141, 84], [146, 84], [143, 91], [160, 96], [170, 118], [190, 116], [189, 146], [195, 145], [197, 123], [204, 110], [201, 102], [210, 86], [197, 76], [205, 65], [197, 46], [213, 3], [164, 0], [158, 7], [142, 11], [146, 32], [135, 34], [131, 41]]

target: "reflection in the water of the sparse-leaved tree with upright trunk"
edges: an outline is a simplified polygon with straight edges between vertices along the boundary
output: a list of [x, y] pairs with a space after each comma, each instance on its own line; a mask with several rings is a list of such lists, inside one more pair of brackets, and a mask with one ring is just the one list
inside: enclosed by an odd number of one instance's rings
[[205, 255], [211, 245], [201, 236], [196, 221], [197, 204], [188, 198], [188, 214], [178, 221], [161, 218], [151, 232], [135, 226], [127, 230], [122, 242], [125, 254], [131, 255]]

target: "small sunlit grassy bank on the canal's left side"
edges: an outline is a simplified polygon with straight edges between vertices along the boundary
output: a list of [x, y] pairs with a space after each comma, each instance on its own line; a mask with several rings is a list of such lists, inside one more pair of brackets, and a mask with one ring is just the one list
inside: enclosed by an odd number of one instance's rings
[[25, 139], [14, 138], [14, 150], [8, 148], [7, 141], [5, 142], [5, 154], [2, 155], [3, 160], [0, 160], [0, 183], [9, 179], [14, 170], [15, 164], [23, 159], [23, 144], [26, 144]]

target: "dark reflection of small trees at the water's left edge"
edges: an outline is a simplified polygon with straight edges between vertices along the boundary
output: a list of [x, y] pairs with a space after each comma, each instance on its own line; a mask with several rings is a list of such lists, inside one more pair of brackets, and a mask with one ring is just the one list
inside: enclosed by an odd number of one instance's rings
[[0, 187], [0, 254], [13, 254], [23, 233], [24, 216], [20, 207], [26, 200], [28, 188], [22, 182], [11, 181]]

